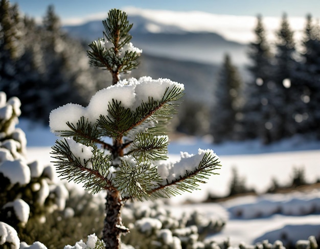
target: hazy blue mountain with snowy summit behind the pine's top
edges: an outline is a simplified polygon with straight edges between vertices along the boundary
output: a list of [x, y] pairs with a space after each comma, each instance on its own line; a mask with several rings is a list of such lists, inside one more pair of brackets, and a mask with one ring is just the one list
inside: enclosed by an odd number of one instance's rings
[[[212, 64], [220, 63], [224, 54], [229, 53], [235, 64], [247, 62], [245, 44], [226, 40], [217, 33], [188, 31], [139, 14], [129, 13], [128, 20], [133, 23], [132, 42], [146, 54]], [[94, 20], [78, 26], [64, 26], [64, 30], [89, 42], [101, 38], [104, 28], [101, 20]]]

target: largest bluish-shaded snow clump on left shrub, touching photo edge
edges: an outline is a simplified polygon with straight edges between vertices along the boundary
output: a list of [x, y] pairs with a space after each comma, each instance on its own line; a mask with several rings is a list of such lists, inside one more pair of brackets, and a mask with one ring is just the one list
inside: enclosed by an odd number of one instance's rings
[[0, 164], [0, 172], [10, 179], [11, 184], [25, 185], [30, 183], [30, 168], [20, 160], [2, 162]]

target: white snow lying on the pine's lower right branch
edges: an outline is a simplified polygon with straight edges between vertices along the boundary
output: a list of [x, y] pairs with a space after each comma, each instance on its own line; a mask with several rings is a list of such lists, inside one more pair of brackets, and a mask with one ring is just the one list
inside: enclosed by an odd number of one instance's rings
[[198, 154], [196, 155], [181, 152], [181, 160], [179, 162], [166, 162], [159, 164], [157, 167], [158, 173], [164, 182], [166, 182], [166, 179], [168, 179], [169, 183], [173, 182], [174, 180], [179, 179], [180, 176], [183, 177], [186, 175], [187, 172], [190, 173], [196, 171], [204, 154], [207, 152], [211, 153], [211, 155], [216, 159], [219, 158], [216, 153], [210, 149], [198, 149]]

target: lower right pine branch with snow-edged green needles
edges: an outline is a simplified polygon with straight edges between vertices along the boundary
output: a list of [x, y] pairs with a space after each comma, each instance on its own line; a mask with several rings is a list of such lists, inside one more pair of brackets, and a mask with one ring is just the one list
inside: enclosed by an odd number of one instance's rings
[[167, 179], [167, 184], [158, 185], [152, 190], [148, 191], [151, 198], [165, 197], [169, 198], [171, 196], [176, 196], [182, 194], [183, 192], [192, 192], [194, 190], [199, 190], [199, 183], [206, 183], [204, 179], [209, 179], [212, 174], [219, 174], [213, 172], [216, 169], [220, 169], [221, 164], [219, 158], [210, 152], [206, 152], [199, 166], [193, 172], [186, 171], [184, 176], [179, 176], [171, 182]]

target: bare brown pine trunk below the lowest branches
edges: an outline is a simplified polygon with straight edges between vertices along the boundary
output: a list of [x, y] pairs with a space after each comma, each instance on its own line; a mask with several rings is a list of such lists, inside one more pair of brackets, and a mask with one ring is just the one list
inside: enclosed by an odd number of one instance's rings
[[106, 196], [106, 217], [104, 219], [103, 241], [107, 249], [120, 248], [121, 229], [121, 208], [123, 202], [119, 191], [107, 191]]

